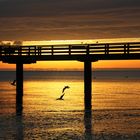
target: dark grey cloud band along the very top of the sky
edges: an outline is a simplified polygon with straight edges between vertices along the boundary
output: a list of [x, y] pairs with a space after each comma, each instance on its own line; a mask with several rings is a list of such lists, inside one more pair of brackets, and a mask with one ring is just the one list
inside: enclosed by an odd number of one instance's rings
[[139, 0], [7, 0], [0, 1], [0, 16], [57, 16], [107, 9], [140, 8]]

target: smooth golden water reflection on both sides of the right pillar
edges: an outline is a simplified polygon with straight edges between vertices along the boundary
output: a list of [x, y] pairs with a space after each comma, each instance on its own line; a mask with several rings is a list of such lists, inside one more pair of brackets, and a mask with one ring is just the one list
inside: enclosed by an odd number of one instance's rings
[[[56, 100], [62, 95], [64, 100]], [[92, 84], [92, 109], [140, 108], [139, 82], [100, 82]], [[83, 110], [83, 82], [27, 81], [24, 84], [24, 106], [34, 110]]]

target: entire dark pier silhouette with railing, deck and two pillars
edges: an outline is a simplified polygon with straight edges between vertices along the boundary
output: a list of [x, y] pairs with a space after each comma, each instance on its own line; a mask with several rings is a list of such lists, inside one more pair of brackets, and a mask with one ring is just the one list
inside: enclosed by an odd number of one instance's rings
[[0, 61], [16, 64], [16, 110], [22, 113], [23, 64], [37, 61], [77, 60], [84, 63], [85, 109], [91, 110], [92, 62], [98, 60], [138, 60], [140, 42], [75, 45], [0, 46]]

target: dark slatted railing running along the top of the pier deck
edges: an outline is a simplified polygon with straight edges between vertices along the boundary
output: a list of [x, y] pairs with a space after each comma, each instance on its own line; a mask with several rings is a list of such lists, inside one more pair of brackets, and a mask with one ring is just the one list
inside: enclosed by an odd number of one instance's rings
[[5, 55], [96, 55], [140, 54], [140, 42], [96, 43], [74, 45], [0, 46], [0, 56]]

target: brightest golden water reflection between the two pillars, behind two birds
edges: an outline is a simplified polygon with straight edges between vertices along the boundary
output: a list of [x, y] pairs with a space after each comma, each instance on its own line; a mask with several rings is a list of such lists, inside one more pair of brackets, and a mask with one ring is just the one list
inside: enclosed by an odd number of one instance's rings
[[[62, 95], [64, 86], [64, 100], [56, 100]], [[83, 110], [83, 83], [57, 81], [30, 81], [25, 83], [24, 105], [26, 109], [38, 108], [41, 110]], [[35, 105], [35, 106], [33, 106]]]

